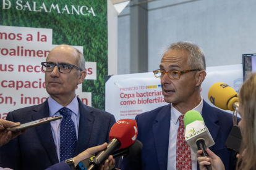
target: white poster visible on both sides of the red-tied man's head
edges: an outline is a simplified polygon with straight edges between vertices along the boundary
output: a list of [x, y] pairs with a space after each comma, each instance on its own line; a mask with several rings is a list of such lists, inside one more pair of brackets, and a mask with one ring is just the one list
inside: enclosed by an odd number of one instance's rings
[[[208, 90], [211, 85], [220, 81], [238, 92], [242, 84], [242, 65], [207, 68], [207, 76], [201, 86], [201, 95], [213, 107], [215, 106], [208, 100]], [[167, 104], [163, 100], [160, 79], [155, 78], [153, 71], [111, 76], [106, 82], [106, 111], [112, 113], [116, 121], [134, 119], [140, 113]]]

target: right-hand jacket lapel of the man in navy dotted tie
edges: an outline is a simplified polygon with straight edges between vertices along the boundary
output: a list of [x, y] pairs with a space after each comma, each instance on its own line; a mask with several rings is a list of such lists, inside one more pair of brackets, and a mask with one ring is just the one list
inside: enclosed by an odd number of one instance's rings
[[88, 142], [92, 133], [92, 127], [94, 122], [94, 116], [92, 110], [84, 105], [79, 98], [79, 135], [77, 140], [77, 148], [75, 149], [75, 155], [83, 152], [88, 147]]

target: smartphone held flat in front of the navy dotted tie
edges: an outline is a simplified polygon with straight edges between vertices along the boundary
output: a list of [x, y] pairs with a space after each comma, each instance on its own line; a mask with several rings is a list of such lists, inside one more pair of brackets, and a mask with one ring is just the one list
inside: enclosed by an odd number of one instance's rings
[[7, 131], [12, 131], [12, 132], [21, 131], [21, 130], [27, 129], [29, 127], [38, 126], [40, 124], [48, 123], [48, 122], [55, 121], [55, 120], [58, 120], [58, 119], [62, 119], [62, 116], [50, 116], [50, 117], [47, 117], [47, 118], [38, 119], [36, 121], [30, 121], [28, 123], [23, 123], [23, 124], [20, 124], [18, 126], [7, 127], [6, 130]]

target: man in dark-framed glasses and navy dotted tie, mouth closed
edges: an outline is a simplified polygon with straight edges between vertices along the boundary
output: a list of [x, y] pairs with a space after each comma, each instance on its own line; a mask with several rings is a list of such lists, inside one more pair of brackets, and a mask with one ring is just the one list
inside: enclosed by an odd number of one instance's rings
[[74, 169], [71, 158], [87, 148], [109, 142], [109, 131], [116, 122], [114, 116], [84, 105], [75, 95], [75, 88], [87, 75], [81, 52], [61, 45], [49, 52], [41, 65], [48, 99], [40, 105], [11, 111], [6, 119], [22, 124], [48, 116], [63, 118], [32, 127], [2, 146], [0, 166], [3, 168], [46, 169], [66, 161]]

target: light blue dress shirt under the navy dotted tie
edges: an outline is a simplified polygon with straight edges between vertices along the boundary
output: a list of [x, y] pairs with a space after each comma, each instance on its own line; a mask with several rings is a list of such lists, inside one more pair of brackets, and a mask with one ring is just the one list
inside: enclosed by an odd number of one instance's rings
[[[59, 113], [59, 110], [63, 107], [58, 102], [56, 102], [51, 96], [49, 96], [48, 99], [49, 104], [49, 116], [60, 116], [61, 113]], [[75, 124], [75, 132], [77, 133], [77, 139], [78, 139], [78, 130], [79, 130], [79, 103], [77, 100], [77, 95], [75, 95], [74, 99], [72, 100], [69, 105], [67, 105], [67, 108], [71, 110], [71, 119], [74, 121]], [[56, 121], [51, 121], [51, 132], [53, 133], [53, 139], [59, 159], [60, 155], [60, 148], [61, 148], [61, 139], [60, 139], [60, 128], [61, 128], [61, 121], [62, 119], [58, 119]]]

